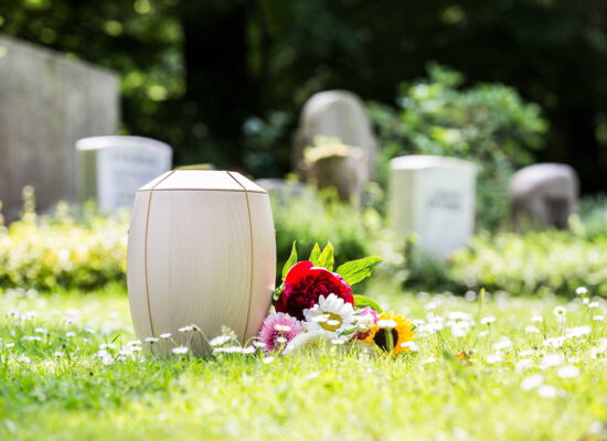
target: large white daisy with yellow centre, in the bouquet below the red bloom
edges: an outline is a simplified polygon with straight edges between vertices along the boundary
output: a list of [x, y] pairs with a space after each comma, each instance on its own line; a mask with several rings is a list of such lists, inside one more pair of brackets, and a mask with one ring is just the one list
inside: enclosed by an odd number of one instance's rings
[[344, 332], [354, 330], [354, 309], [352, 303], [344, 302], [336, 294], [327, 298], [320, 295], [313, 308], [303, 310], [306, 322], [303, 326], [312, 333], [328, 334], [328, 337], [337, 337]]

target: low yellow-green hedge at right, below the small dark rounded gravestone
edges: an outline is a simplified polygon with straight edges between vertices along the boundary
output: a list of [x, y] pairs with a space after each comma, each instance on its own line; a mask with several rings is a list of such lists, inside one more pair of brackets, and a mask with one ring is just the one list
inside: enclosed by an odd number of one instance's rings
[[586, 286], [607, 297], [607, 235], [563, 230], [481, 234], [451, 258], [451, 280], [513, 294], [571, 295]]

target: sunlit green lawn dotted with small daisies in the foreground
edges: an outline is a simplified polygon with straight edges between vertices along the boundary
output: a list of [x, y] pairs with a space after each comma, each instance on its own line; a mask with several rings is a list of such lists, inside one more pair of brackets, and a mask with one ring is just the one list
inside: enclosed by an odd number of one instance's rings
[[[579, 299], [496, 295], [479, 313], [478, 301], [391, 291], [375, 284], [370, 293], [414, 319], [434, 313], [447, 323], [461, 311], [496, 322], [477, 324], [464, 337], [448, 326], [426, 333], [418, 353], [397, 359], [326, 348], [271, 363], [243, 355], [158, 361], [134, 353], [104, 365], [94, 355], [102, 344], [114, 342], [116, 355], [135, 338], [124, 292], [9, 292], [0, 298], [8, 313], [0, 318], [0, 439], [578, 440], [596, 421], [607, 422], [607, 352], [599, 351], [607, 325], [592, 320], [605, 315], [605, 304], [590, 310]], [[567, 306], [564, 326], [553, 314], [557, 304]], [[28, 311], [39, 314], [20, 320]], [[543, 323], [532, 323], [536, 314]], [[79, 319], [70, 324], [66, 315]], [[541, 332], [525, 333], [532, 324]], [[587, 335], [543, 346], [546, 337], [586, 325]], [[504, 336], [511, 346], [493, 348]], [[475, 351], [469, 363], [456, 357], [462, 349]], [[496, 354], [502, 359], [489, 363]], [[562, 363], [542, 368], [549, 354]], [[525, 369], [522, 359], [530, 361]], [[562, 378], [563, 366], [578, 367], [578, 376]], [[534, 375], [549, 387], [523, 390]]]

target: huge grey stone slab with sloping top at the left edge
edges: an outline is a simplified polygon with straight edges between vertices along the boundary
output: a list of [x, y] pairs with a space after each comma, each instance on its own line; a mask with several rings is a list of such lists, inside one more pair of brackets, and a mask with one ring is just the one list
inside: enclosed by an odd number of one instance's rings
[[32, 185], [38, 209], [76, 198], [74, 142], [111, 135], [119, 120], [118, 76], [0, 36], [0, 201], [19, 216]]

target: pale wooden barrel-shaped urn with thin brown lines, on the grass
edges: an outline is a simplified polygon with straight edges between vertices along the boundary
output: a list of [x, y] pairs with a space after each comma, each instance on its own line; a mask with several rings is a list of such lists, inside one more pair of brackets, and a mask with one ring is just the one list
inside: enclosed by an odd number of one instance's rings
[[[138, 190], [128, 238], [128, 294], [137, 336], [171, 337], [194, 353], [232, 329], [241, 343], [259, 331], [276, 277], [268, 194], [239, 173], [174, 170]], [[173, 342], [174, 341], [174, 342]], [[146, 344], [148, 348], [149, 344]]]

